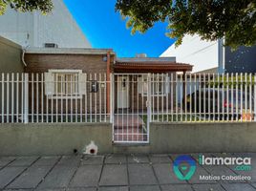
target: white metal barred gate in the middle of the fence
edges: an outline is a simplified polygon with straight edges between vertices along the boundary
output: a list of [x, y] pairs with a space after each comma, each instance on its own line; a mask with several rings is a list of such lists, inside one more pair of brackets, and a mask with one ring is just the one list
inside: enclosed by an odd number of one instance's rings
[[114, 74], [112, 84], [113, 141], [149, 141], [150, 74]]

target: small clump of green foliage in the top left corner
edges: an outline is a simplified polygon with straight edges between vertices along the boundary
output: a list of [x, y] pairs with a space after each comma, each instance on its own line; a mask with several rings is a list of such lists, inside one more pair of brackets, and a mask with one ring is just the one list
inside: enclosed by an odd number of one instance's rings
[[52, 0], [0, 0], [0, 15], [8, 6], [16, 11], [41, 11], [43, 14], [53, 10]]

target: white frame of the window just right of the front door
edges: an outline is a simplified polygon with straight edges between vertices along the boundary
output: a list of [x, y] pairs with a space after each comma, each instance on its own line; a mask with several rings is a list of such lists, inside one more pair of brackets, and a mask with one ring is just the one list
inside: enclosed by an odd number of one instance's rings
[[[154, 88], [153, 88], [153, 83], [157, 83], [158, 82], [158, 80], [156, 79], [157, 77], [162, 77], [162, 74], [160, 74], [160, 75], [158, 75], [158, 74], [155, 74], [154, 75], [154, 78], [155, 78], [155, 80], [153, 80], [153, 76], [151, 77], [151, 90], [154, 90]], [[144, 82], [143, 83], [141, 83], [142, 82], [142, 78], [144, 79]], [[166, 79], [167, 78], [167, 79]], [[143, 74], [143, 77], [142, 76], [139, 76], [139, 78], [138, 78], [138, 92], [139, 92], [139, 94], [141, 95], [141, 96], [147, 96], [147, 92], [148, 92], [148, 90], [147, 90], [147, 88], [148, 88], [148, 81], [147, 81], [147, 75], [145, 75], [145, 74]], [[168, 77], [168, 75], [167, 74], [164, 74], [163, 75], [163, 79], [162, 80], [160, 80], [160, 83], [164, 83], [165, 84], [165, 86], [163, 86], [162, 87], [162, 89], [163, 89], [163, 94], [162, 93], [160, 93], [160, 94], [157, 94], [156, 92], [154, 92], [154, 93], [152, 93], [151, 92], [151, 96], [168, 96], [168, 94], [169, 94], [169, 88], [170, 88], [170, 83], [169, 83], [169, 77]], [[167, 83], [167, 86], [168, 87], [166, 87], [166, 83]], [[146, 90], [145, 90], [145, 88], [146, 88]], [[144, 89], [143, 91], [142, 91], [142, 89]]]

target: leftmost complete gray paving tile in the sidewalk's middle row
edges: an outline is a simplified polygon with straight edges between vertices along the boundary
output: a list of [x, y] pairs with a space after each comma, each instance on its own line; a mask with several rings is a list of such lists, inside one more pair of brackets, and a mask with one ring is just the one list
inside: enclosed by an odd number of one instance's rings
[[8, 188], [35, 188], [52, 166], [32, 166], [23, 172]]

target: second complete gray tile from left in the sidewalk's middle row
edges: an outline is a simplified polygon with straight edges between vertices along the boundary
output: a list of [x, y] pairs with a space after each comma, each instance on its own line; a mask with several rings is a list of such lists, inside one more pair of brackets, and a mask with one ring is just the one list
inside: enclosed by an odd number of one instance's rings
[[47, 175], [38, 188], [63, 188], [67, 187], [73, 175], [75, 174], [76, 167], [66, 165], [56, 165], [53, 170]]

